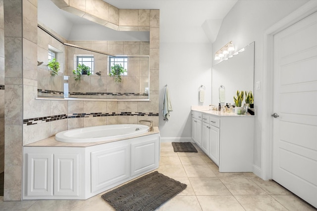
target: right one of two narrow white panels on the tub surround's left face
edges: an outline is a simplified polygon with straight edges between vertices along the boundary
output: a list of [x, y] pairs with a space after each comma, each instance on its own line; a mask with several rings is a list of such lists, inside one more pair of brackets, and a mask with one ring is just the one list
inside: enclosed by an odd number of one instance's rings
[[79, 196], [79, 154], [54, 154], [54, 196]]

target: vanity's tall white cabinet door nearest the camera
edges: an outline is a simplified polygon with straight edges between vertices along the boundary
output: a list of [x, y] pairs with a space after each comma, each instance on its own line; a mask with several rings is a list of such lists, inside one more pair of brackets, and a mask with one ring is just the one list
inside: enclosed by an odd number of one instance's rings
[[210, 145], [209, 157], [219, 166], [219, 143], [220, 143], [220, 129], [217, 127], [210, 127]]

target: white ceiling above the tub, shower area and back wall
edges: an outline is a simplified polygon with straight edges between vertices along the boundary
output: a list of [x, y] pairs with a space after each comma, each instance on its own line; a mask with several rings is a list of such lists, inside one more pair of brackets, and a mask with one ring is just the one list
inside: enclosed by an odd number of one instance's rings
[[[210, 42], [212, 43], [218, 33], [222, 19], [230, 11], [237, 0], [104, 0], [107, 3], [119, 8], [119, 9], [159, 9], [160, 10], [160, 42]], [[38, 1], [38, 18], [45, 25], [52, 28], [58, 34], [61, 34], [68, 40], [100, 40], [99, 38], [92, 39], [89, 36], [87, 38], [81, 38], [78, 33], [72, 33], [76, 31], [76, 28], [94, 26], [97, 30], [101, 29], [101, 25], [97, 26], [96, 23], [92, 23], [88, 20], [80, 18], [78, 16], [67, 13], [63, 10], [53, 8], [53, 2], [50, 0]], [[63, 23], [67, 27], [56, 26], [56, 22], [50, 20], [49, 13], [59, 13], [59, 17], [64, 18]], [[61, 21], [58, 21], [59, 25]], [[106, 28], [106, 27], [103, 27]], [[118, 38], [118, 32], [105, 29], [104, 34]], [[59, 32], [60, 31], [60, 32]], [[78, 30], [77, 30], [78, 31]], [[120, 34], [122, 32], [119, 32]], [[92, 33], [93, 34], [93, 33]], [[98, 33], [94, 33], [98, 34]], [[99, 33], [100, 34], [100, 33]], [[142, 35], [142, 32], [125, 32], [126, 36], [122, 39], [131, 40], [148, 39], [148, 36]], [[90, 35], [92, 36], [92, 35]], [[138, 38], [138, 37], [141, 38]], [[75, 39], [74, 39], [75, 37]], [[146, 37], [146, 38], [145, 38]], [[111, 40], [111, 39], [108, 39]]]

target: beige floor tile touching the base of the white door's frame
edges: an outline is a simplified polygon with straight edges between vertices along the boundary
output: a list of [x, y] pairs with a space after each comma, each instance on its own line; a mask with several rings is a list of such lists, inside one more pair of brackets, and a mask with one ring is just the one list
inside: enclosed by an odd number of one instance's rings
[[252, 177], [251, 180], [257, 183], [257, 185], [259, 185], [269, 195], [292, 195], [290, 191], [288, 191], [275, 181], [264, 181], [259, 177]]

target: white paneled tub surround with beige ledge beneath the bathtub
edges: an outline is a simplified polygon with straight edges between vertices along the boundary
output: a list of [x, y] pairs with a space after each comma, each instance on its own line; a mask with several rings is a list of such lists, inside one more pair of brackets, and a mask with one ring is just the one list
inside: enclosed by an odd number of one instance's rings
[[159, 130], [113, 142], [23, 147], [23, 200], [88, 199], [159, 168]]

